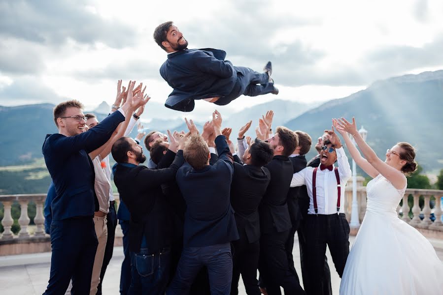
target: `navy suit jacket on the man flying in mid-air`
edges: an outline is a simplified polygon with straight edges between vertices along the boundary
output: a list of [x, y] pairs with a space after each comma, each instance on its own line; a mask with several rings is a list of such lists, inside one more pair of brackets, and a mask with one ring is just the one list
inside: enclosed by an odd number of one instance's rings
[[237, 71], [219, 49], [184, 49], [168, 55], [160, 74], [173, 91], [165, 106], [182, 112], [194, 109], [194, 100], [231, 93]]

